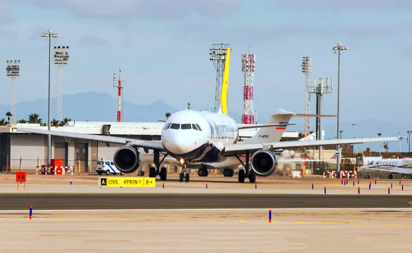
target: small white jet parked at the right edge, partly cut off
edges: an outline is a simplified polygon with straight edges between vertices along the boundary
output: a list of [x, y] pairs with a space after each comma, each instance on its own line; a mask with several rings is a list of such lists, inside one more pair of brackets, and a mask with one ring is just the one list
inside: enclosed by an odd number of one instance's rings
[[389, 173], [387, 178], [392, 179], [393, 174], [402, 174], [402, 178], [409, 176], [412, 178], [412, 158], [403, 159], [378, 159], [368, 162], [367, 165], [358, 167], [358, 173], [364, 174], [365, 178], [370, 177], [370, 173]]

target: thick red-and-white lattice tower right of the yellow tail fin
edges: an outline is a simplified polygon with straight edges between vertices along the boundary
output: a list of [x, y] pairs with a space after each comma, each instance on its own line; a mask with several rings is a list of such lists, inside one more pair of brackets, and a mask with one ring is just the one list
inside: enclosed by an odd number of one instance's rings
[[243, 113], [242, 124], [254, 124], [253, 115], [253, 75], [255, 74], [255, 54], [245, 53], [242, 55], [242, 72], [244, 72], [243, 88]]

